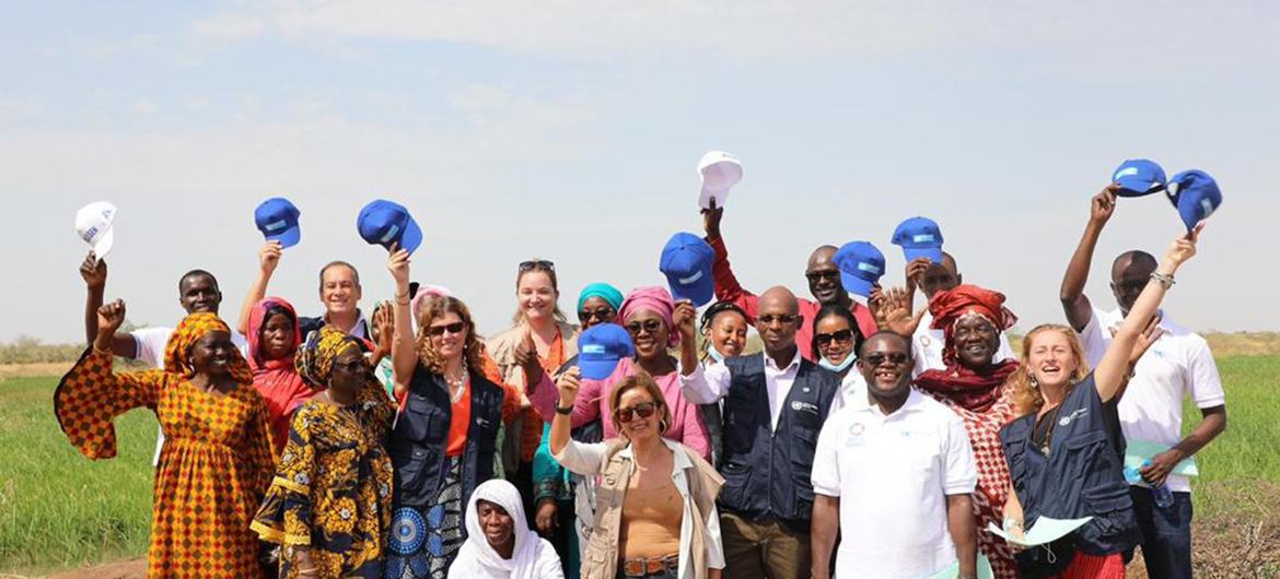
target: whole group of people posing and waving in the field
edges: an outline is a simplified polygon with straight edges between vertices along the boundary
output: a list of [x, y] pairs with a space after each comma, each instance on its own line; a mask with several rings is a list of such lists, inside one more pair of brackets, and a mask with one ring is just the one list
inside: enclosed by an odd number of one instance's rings
[[[700, 314], [666, 288], [598, 282], [572, 323], [554, 263], [529, 259], [513, 325], [489, 340], [396, 244], [394, 295], [367, 320], [342, 261], [320, 270], [320, 317], [268, 295], [284, 254], [268, 242], [234, 326], [192, 270], [187, 316], [131, 334], [91, 253], [90, 346], [54, 412], [90, 459], [116, 454], [120, 414], [159, 418], [151, 576], [1123, 578], [1138, 546], [1151, 576], [1190, 576], [1190, 487], [1171, 472], [1226, 412], [1204, 340], [1160, 304], [1199, 228], [1160, 258], [1117, 257], [1119, 308], [1098, 312], [1083, 288], [1116, 193], [1092, 199], [1068, 325], [1016, 351], [1005, 297], [950, 254], [864, 291], [851, 275], [869, 268], [823, 245], [814, 299], [754, 294], [714, 205]], [[746, 354], [751, 328], [763, 350]], [[1184, 437], [1188, 396], [1204, 418]], [[1167, 449], [1137, 477], [1134, 440]], [[1042, 518], [1088, 521], [1027, 547]]]

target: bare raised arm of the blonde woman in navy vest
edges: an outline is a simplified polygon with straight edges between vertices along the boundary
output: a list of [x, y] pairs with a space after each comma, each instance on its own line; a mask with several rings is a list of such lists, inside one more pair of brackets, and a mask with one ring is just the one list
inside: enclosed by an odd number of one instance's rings
[[1098, 362], [1098, 367], [1093, 371], [1093, 382], [1098, 389], [1098, 398], [1103, 403], [1110, 401], [1124, 387], [1129, 376], [1129, 360], [1134, 345], [1138, 344], [1139, 335], [1151, 323], [1152, 316], [1160, 308], [1160, 302], [1165, 299], [1165, 293], [1172, 286], [1174, 274], [1196, 254], [1196, 242], [1201, 229], [1203, 229], [1203, 224], [1174, 240], [1169, 252], [1160, 261], [1160, 267], [1151, 275], [1147, 288], [1129, 308], [1129, 313], [1120, 328], [1116, 330], [1106, 354], [1102, 354], [1102, 362]]

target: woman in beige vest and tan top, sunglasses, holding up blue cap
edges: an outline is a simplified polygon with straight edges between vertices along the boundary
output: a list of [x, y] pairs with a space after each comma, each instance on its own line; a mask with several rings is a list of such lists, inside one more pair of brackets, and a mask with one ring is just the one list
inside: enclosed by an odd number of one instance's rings
[[558, 387], [552, 451], [570, 470], [600, 479], [582, 579], [719, 579], [716, 496], [724, 479], [699, 451], [663, 437], [672, 414], [658, 383], [645, 374], [621, 380], [609, 394], [618, 435], [596, 444], [570, 437], [577, 369]]

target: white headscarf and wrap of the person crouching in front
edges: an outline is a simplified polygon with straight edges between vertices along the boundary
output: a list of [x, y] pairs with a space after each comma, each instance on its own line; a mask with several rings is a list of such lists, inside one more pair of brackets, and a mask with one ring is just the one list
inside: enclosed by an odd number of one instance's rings
[[[502, 559], [485, 538], [480, 528], [480, 514], [476, 505], [489, 501], [507, 510], [516, 534], [516, 547], [511, 559]], [[524, 501], [520, 491], [500, 478], [485, 481], [471, 492], [466, 510], [467, 541], [458, 550], [458, 556], [449, 566], [451, 578], [458, 579], [547, 579], [563, 578], [559, 557], [541, 537], [529, 530], [525, 519]]]

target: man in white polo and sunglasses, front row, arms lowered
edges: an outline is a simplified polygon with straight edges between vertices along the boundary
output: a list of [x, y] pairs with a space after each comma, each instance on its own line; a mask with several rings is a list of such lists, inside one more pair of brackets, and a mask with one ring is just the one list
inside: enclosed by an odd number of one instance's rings
[[827, 419], [813, 461], [813, 576], [919, 579], [956, 566], [977, 576], [978, 484], [964, 422], [911, 389], [906, 339], [867, 339], [856, 369], [867, 398]]

